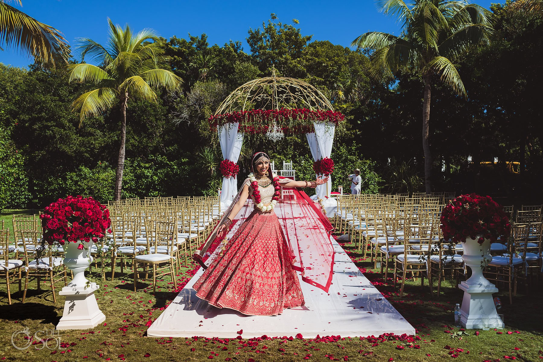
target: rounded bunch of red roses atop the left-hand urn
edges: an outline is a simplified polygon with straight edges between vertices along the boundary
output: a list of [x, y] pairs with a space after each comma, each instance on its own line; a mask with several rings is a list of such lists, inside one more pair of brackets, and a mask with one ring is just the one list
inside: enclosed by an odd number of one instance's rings
[[40, 214], [40, 219], [43, 239], [49, 245], [77, 243], [78, 240], [96, 243], [111, 226], [108, 208], [83, 196], [67, 196], [52, 202]]

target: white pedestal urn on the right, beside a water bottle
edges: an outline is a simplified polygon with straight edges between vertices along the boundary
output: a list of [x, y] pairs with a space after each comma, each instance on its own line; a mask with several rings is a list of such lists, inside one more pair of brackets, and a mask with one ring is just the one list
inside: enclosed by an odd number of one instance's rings
[[493, 293], [498, 288], [483, 276], [483, 268], [492, 260], [490, 255], [490, 240], [484, 239], [483, 244], [471, 237], [464, 243], [463, 261], [471, 268], [471, 277], [460, 283], [459, 288], [464, 290], [460, 320], [465, 328], [482, 328], [482, 317], [487, 316], [491, 325], [489, 327], [503, 327], [503, 322], [496, 313]]

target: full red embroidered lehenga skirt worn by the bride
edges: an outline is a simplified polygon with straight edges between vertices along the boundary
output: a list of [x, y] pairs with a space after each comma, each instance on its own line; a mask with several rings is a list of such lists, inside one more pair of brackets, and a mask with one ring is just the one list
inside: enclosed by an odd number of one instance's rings
[[[220, 246], [219, 246], [220, 247]], [[304, 305], [293, 256], [274, 212], [253, 211], [194, 283], [200, 299], [247, 315], [277, 315]]]

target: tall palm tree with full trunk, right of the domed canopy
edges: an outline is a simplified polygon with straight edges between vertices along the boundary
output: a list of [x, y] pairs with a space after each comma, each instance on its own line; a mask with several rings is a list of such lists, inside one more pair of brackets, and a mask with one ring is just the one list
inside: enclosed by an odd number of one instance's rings
[[488, 43], [493, 31], [490, 11], [468, 1], [380, 0], [384, 14], [402, 22], [402, 36], [378, 31], [362, 34], [351, 46], [375, 50], [370, 74], [380, 80], [392, 80], [398, 71], [413, 72], [424, 81], [422, 101], [422, 148], [426, 193], [432, 192], [432, 156], [430, 134], [430, 96], [435, 78], [467, 97], [464, 84], [452, 61], [470, 48]]

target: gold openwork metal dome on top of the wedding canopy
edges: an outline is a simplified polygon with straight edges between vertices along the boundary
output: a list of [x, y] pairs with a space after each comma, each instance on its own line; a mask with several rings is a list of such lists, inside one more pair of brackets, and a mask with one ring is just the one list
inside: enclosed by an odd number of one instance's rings
[[273, 69], [271, 77], [254, 79], [236, 88], [219, 105], [215, 115], [281, 108], [333, 111], [330, 101], [317, 88], [300, 79], [276, 77]]

